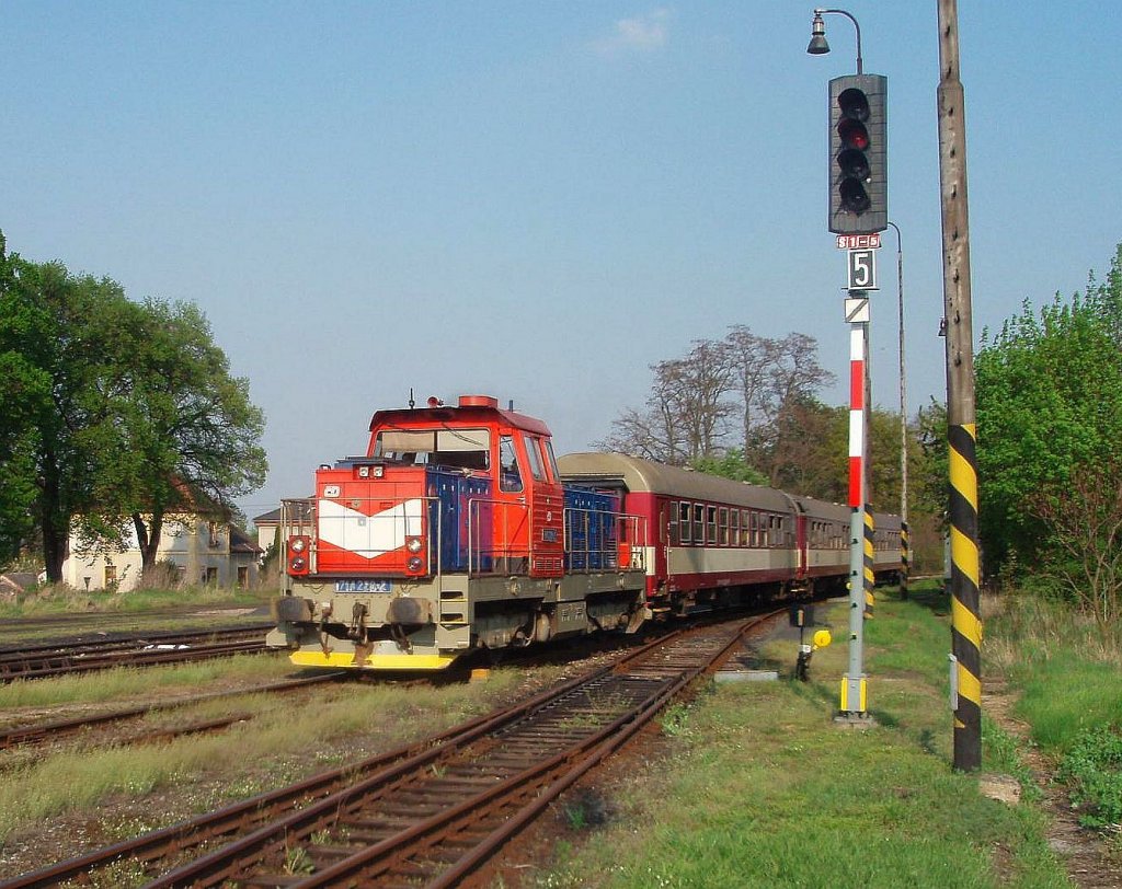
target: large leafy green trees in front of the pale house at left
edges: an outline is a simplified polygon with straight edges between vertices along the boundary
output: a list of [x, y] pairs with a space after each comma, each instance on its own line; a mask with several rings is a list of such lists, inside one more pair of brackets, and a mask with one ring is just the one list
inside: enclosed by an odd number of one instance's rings
[[197, 307], [0, 257], [2, 555], [37, 534], [57, 582], [75, 524], [107, 545], [131, 525], [148, 569], [169, 510], [224, 518], [260, 484], [261, 413]]

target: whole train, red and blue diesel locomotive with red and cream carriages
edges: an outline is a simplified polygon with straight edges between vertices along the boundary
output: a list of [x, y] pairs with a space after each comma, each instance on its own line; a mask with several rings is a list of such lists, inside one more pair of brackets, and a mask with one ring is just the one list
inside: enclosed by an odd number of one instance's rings
[[[549, 428], [486, 396], [380, 410], [364, 456], [285, 500], [268, 641], [294, 664], [440, 669], [701, 609], [842, 592], [847, 507], [624, 454], [554, 457]], [[875, 517], [895, 574], [900, 520]]]

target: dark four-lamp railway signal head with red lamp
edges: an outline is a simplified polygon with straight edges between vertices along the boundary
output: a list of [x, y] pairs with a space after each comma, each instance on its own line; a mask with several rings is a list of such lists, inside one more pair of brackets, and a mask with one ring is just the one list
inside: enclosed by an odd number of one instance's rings
[[889, 226], [888, 77], [830, 81], [830, 231], [870, 234]]

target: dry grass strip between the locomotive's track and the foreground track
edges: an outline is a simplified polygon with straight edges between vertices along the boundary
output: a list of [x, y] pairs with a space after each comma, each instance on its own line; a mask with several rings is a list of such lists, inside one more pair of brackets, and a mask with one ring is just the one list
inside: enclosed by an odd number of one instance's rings
[[[217, 661], [212, 666], [219, 668]], [[196, 787], [190, 805], [197, 811], [250, 796], [487, 712], [495, 697], [519, 678], [516, 670], [498, 669], [486, 685], [332, 684], [301, 698], [300, 706], [291, 705], [284, 695], [246, 695], [190, 711], [191, 719], [241, 711], [254, 714], [218, 734], [10, 758], [0, 781], [0, 845], [54, 816], [171, 787], [181, 791]], [[387, 713], [393, 717], [383, 719]], [[187, 721], [185, 715], [164, 714], [154, 716], [150, 724], [175, 719]], [[151, 830], [160, 819], [175, 821], [185, 814], [182, 808], [159, 812], [144, 816], [142, 823], [130, 816], [120, 825], [121, 835]]]

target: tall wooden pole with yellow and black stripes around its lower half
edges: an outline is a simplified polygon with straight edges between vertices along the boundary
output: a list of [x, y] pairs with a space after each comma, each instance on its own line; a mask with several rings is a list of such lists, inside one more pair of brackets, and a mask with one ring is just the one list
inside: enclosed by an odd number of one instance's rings
[[958, 78], [958, 7], [939, 7], [939, 182], [942, 295], [947, 336], [947, 444], [950, 459], [950, 606], [956, 769], [982, 768], [982, 618], [978, 610], [978, 484], [971, 324], [971, 242], [966, 210], [966, 130]]

